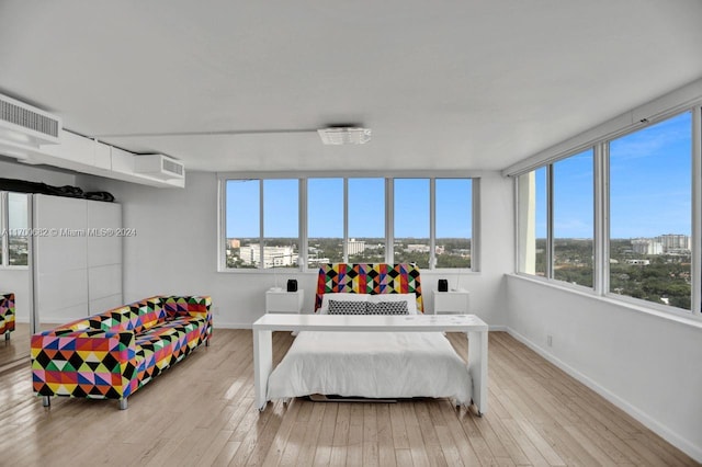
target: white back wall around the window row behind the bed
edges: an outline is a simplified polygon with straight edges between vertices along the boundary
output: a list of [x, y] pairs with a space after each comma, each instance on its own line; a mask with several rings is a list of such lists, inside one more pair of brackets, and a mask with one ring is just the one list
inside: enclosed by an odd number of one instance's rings
[[[123, 205], [124, 299], [155, 294], [206, 294], [213, 299], [215, 326], [250, 327], [264, 310], [264, 292], [275, 285], [271, 272], [217, 272], [217, 180], [214, 173], [189, 172], [184, 190], [154, 189], [94, 176], [80, 176], [84, 190], [105, 190]], [[438, 278], [471, 291], [473, 310], [489, 324], [505, 327], [503, 272], [512, 267], [511, 182], [497, 172], [482, 174], [483, 272], [461, 277], [422, 272], [427, 311]], [[305, 289], [305, 309], [314, 307], [316, 272], [278, 271], [279, 284], [296, 278]]]

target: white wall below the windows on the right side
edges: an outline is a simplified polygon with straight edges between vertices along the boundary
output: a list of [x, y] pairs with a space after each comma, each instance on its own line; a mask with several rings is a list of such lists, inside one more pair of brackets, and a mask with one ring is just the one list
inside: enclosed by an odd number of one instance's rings
[[510, 333], [702, 462], [702, 323], [514, 275], [507, 294]]

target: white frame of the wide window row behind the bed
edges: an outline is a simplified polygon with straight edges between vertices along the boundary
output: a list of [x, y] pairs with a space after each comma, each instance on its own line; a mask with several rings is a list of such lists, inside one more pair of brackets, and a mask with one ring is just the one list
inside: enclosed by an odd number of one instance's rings
[[[348, 261], [348, 240], [349, 240], [349, 180], [351, 179], [383, 179], [384, 180], [384, 194], [385, 194], [385, 262], [393, 263], [394, 258], [394, 200], [393, 200], [393, 182], [395, 179], [428, 179], [430, 183], [430, 242], [431, 244], [435, 244], [435, 180], [438, 179], [469, 179], [471, 180], [471, 190], [472, 190], [472, 198], [471, 198], [471, 209], [472, 209], [472, 218], [471, 218], [471, 267], [433, 267], [434, 261], [434, 251], [432, 249], [430, 257], [430, 267], [429, 271], [442, 272], [446, 273], [456, 272], [456, 273], [477, 273], [479, 272], [479, 258], [480, 258], [480, 242], [479, 242], [479, 204], [480, 204], [480, 178], [479, 175], [471, 174], [471, 173], [430, 173], [427, 172], [404, 172], [400, 174], [377, 174], [371, 172], [359, 172], [353, 174], [341, 174], [338, 172], [325, 172], [325, 173], [252, 173], [252, 172], [229, 172], [229, 173], [218, 173], [217, 174], [217, 272], [224, 273], [265, 273], [270, 272], [267, 269], [261, 267], [259, 264], [256, 269], [237, 269], [237, 267], [227, 267], [226, 264], [226, 216], [227, 216], [227, 181], [228, 180], [258, 180], [259, 185], [263, 185], [264, 180], [270, 179], [296, 179], [298, 181], [298, 242], [299, 242], [299, 260], [296, 269], [291, 269], [291, 271], [298, 272], [316, 272], [317, 269], [315, 266], [310, 267], [308, 265], [308, 200], [307, 200], [307, 183], [310, 179], [341, 179], [343, 181], [343, 259]], [[259, 223], [262, 224], [263, 219], [263, 190], [261, 189], [261, 198], [260, 198], [260, 219]], [[262, 237], [262, 226], [261, 226], [261, 240]], [[262, 243], [261, 243], [262, 244]], [[262, 248], [262, 247], [261, 247]], [[389, 261], [388, 261], [389, 259]]]

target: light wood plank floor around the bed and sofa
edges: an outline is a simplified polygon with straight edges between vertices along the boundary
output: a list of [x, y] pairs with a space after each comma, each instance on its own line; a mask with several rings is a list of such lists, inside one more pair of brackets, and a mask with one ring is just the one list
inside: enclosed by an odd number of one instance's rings
[[[449, 334], [461, 355], [463, 334]], [[290, 346], [275, 332], [274, 358]], [[253, 406], [251, 331], [216, 330], [129, 398], [31, 391], [29, 363], [0, 374], [0, 465], [695, 465], [503, 332], [489, 334], [489, 412], [448, 400]]]

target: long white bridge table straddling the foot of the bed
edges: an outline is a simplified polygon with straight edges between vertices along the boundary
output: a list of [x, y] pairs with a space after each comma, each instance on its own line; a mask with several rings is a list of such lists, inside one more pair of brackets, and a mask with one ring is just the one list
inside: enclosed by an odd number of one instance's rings
[[253, 329], [253, 383], [256, 406], [268, 403], [268, 378], [273, 371], [273, 331], [351, 332], [465, 332], [466, 358], [473, 379], [473, 403], [478, 415], [487, 412], [487, 332], [488, 326], [475, 315], [279, 315], [259, 318]]

